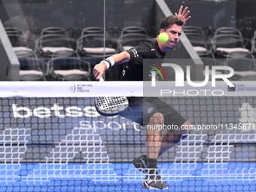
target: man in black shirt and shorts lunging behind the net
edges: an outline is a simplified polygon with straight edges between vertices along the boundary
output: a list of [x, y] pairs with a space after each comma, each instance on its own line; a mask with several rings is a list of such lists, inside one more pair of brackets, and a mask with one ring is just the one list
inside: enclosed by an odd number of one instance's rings
[[[120, 80], [143, 81], [143, 59], [163, 59], [166, 51], [178, 44], [182, 26], [190, 19], [187, 17], [190, 11], [187, 11], [187, 8], [184, 11], [182, 9], [181, 6], [178, 14], [166, 17], [160, 25], [160, 33], [166, 32], [169, 35], [166, 43], [161, 42], [157, 36], [157, 38], [141, 42], [130, 50], [110, 56], [94, 67], [94, 77], [99, 80], [109, 67], [126, 63]], [[161, 136], [161, 129], [155, 129], [155, 127], [163, 124], [190, 127], [190, 123], [174, 108], [157, 98], [129, 98], [129, 108], [121, 111], [119, 115], [142, 126], [147, 125], [147, 155], [143, 154], [133, 160], [136, 168], [146, 174], [142, 186], [147, 189], [167, 189], [166, 182], [157, 170], [157, 158], [179, 142], [182, 133], [168, 130], [166, 135]]]

